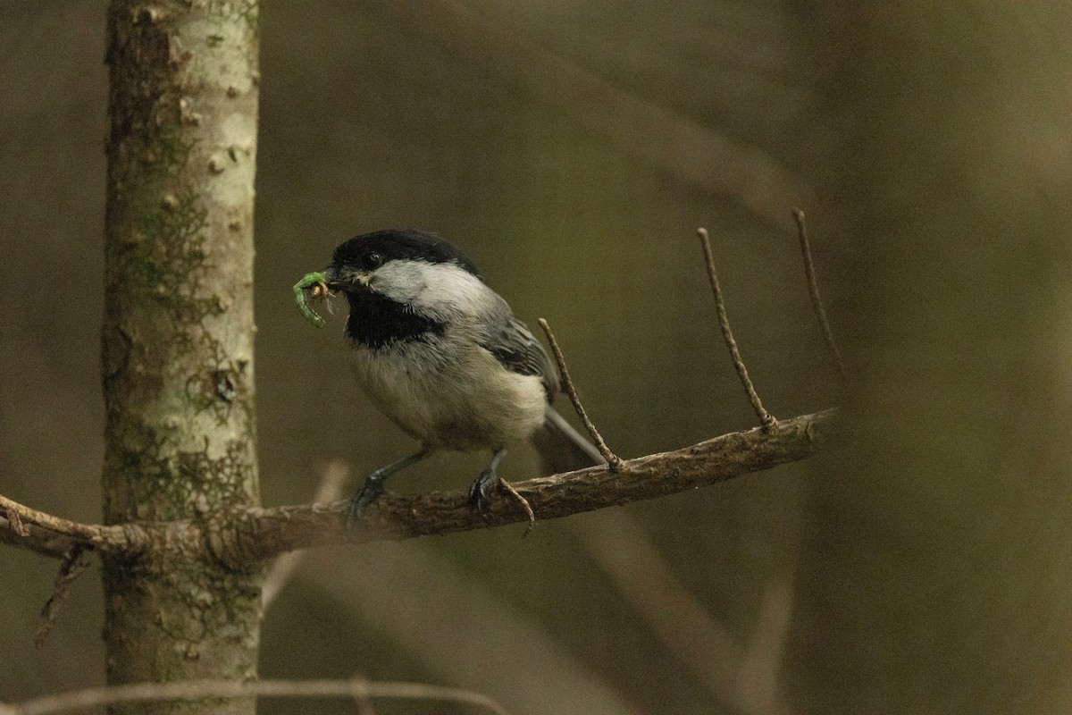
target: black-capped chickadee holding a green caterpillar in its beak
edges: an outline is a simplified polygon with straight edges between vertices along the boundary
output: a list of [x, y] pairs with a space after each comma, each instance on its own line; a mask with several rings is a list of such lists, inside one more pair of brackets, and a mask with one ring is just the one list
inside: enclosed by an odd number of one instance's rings
[[438, 236], [388, 229], [340, 244], [322, 273], [295, 286], [303, 312], [323, 325], [303, 303], [302, 292], [316, 284], [349, 302], [345, 333], [369, 399], [421, 444], [369, 475], [351, 500], [352, 522], [389, 476], [437, 450], [491, 451], [470, 489], [470, 505], [481, 512], [510, 444], [532, 438], [556, 471], [602, 461], [551, 408], [559, 376], [542, 345], [473, 262]]

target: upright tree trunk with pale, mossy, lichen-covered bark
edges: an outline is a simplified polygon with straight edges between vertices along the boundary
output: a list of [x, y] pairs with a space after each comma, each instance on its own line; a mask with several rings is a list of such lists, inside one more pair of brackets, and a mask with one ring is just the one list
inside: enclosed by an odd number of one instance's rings
[[[255, 504], [255, 0], [108, 10], [104, 517]], [[109, 684], [256, 675], [260, 569], [104, 564]], [[252, 713], [252, 700], [122, 713]]]

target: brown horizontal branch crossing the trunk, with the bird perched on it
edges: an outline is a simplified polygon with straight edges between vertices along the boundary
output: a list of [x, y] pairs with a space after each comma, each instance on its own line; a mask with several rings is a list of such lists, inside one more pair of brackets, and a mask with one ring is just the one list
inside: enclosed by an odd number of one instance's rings
[[[706, 487], [805, 459], [829, 445], [836, 422], [836, 412], [828, 409], [731, 432], [675, 451], [625, 460], [617, 472], [600, 465], [512, 486], [532, 505], [537, 518], [559, 519]], [[512, 500], [494, 501], [481, 516], [470, 508], [468, 494], [460, 490], [388, 493], [369, 508], [357, 528], [348, 530], [346, 505], [341, 501], [274, 508], [232, 507], [204, 520], [101, 526], [51, 517], [0, 496], [0, 509], [14, 509], [24, 523], [50, 524], [45, 530], [48, 538], [59, 534], [105, 554], [151, 556], [160, 563], [179, 556], [211, 558], [232, 566], [295, 549], [452, 534], [527, 520]], [[35, 541], [40, 534], [29, 530], [27, 536], [14, 542], [44, 550]]]

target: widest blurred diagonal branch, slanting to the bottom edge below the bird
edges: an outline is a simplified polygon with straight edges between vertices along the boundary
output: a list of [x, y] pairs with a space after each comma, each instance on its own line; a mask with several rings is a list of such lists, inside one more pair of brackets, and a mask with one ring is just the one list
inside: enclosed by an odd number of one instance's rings
[[354, 627], [388, 639], [428, 677], [485, 692], [511, 712], [643, 712], [546, 624], [513, 608], [477, 575], [444, 560], [432, 545], [313, 554], [298, 578], [347, 613]]

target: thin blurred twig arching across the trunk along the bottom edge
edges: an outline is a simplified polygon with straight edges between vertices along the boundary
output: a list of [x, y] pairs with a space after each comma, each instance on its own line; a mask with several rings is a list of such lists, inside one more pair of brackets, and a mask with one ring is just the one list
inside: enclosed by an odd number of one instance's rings
[[435, 700], [463, 703], [496, 715], [506, 710], [491, 698], [461, 688], [423, 683], [370, 683], [364, 679], [345, 681], [183, 681], [177, 683], [136, 683], [87, 688], [45, 696], [21, 703], [0, 703], [0, 713], [47, 715], [120, 702], [159, 700], [202, 700], [205, 698], [389, 698], [393, 700]]

